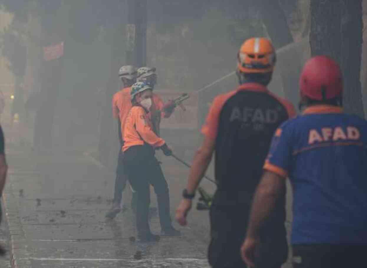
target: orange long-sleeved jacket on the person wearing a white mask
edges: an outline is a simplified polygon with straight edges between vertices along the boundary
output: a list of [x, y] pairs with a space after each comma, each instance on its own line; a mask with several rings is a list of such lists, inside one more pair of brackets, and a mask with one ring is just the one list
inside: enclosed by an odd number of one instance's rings
[[133, 106], [130, 109], [124, 123], [123, 140], [123, 152], [131, 146], [143, 145], [144, 143], [154, 148], [166, 143], [153, 132], [152, 122], [147, 116], [145, 109], [141, 106]]

